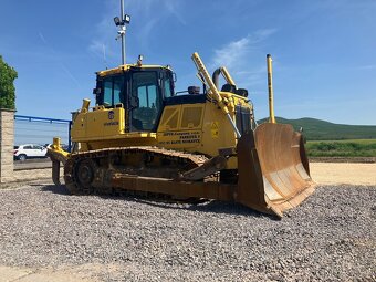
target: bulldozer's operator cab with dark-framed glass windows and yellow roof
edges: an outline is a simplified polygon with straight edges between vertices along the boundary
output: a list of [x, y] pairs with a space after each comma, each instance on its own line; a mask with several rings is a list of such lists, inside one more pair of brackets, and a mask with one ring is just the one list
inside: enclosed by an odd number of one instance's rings
[[96, 104], [124, 107], [126, 132], [156, 132], [166, 98], [174, 96], [166, 66], [123, 65], [97, 73]]

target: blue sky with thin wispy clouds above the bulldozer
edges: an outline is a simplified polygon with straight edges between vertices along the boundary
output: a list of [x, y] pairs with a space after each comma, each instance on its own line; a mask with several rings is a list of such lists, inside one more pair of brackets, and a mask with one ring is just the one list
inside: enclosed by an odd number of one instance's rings
[[[376, 124], [375, 0], [125, 0], [125, 10], [127, 62], [171, 65], [177, 91], [200, 84], [197, 51], [210, 73], [226, 65], [265, 117], [271, 53], [278, 116]], [[118, 13], [119, 0], [1, 0], [18, 114], [70, 118], [93, 98], [94, 73], [121, 63]]]

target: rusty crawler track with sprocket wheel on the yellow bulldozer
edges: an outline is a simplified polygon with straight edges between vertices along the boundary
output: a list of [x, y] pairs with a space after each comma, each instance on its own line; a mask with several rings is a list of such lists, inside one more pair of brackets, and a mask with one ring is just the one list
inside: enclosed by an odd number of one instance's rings
[[126, 192], [150, 197], [149, 192], [114, 189], [111, 180], [115, 174], [176, 179], [207, 159], [203, 155], [146, 146], [90, 150], [70, 157], [64, 166], [64, 180], [69, 191], [74, 195]]

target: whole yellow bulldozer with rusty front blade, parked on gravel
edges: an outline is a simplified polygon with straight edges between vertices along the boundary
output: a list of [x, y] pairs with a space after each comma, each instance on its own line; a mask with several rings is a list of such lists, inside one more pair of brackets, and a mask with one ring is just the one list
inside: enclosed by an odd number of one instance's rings
[[[123, 190], [170, 199], [218, 199], [282, 217], [314, 191], [301, 133], [276, 124], [268, 55], [269, 122], [257, 124], [248, 91], [226, 67], [209, 75], [192, 54], [202, 91], [175, 92], [170, 66], [97, 72], [95, 105], [73, 113], [72, 153], [49, 149], [53, 181], [74, 195]], [[219, 85], [222, 75], [226, 83]]]

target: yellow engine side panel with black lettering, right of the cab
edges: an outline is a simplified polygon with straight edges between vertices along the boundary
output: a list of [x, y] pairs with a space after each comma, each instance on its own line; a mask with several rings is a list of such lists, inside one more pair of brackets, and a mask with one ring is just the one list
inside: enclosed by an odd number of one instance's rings
[[[236, 147], [236, 135], [227, 117], [210, 102], [170, 105], [164, 108], [157, 130], [159, 147], [218, 155]], [[231, 167], [236, 167], [231, 165]]]

